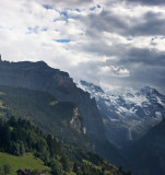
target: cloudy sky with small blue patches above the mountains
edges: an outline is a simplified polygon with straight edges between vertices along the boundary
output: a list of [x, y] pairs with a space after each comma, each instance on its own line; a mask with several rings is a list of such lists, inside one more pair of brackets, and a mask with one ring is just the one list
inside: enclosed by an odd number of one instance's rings
[[110, 90], [165, 94], [165, 0], [0, 0], [0, 54]]

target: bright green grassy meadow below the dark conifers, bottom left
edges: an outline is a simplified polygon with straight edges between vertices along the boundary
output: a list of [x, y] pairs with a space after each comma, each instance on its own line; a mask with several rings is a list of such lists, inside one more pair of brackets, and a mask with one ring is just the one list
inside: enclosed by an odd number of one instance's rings
[[32, 154], [25, 154], [24, 156], [14, 156], [7, 153], [0, 152], [0, 166], [9, 164], [12, 168], [11, 175], [16, 175], [19, 168], [30, 168], [30, 170], [50, 170], [45, 166], [43, 161], [34, 158]]

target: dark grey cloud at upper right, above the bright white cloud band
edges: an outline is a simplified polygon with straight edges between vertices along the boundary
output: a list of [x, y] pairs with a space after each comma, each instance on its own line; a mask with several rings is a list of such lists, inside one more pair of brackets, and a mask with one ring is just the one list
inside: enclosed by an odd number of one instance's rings
[[115, 14], [103, 10], [98, 14], [90, 14], [81, 20], [89, 26], [89, 34], [94, 32], [117, 33], [123, 36], [165, 35], [165, 15], [146, 12], [139, 18]]

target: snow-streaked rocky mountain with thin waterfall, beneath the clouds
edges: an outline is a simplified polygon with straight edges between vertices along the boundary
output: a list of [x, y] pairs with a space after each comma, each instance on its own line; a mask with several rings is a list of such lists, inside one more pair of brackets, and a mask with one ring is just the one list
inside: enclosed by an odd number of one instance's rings
[[95, 97], [107, 138], [118, 148], [138, 139], [165, 117], [165, 96], [153, 88], [108, 95], [102, 88], [85, 81], [80, 81], [79, 86]]

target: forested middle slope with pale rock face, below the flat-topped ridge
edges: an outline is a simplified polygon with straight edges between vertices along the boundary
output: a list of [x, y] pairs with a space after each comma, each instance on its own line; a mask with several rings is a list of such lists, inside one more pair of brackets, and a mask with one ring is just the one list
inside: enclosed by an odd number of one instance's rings
[[0, 117], [11, 115], [28, 119], [68, 143], [92, 150], [83, 119], [73, 103], [58, 102], [45, 92], [0, 85]]

